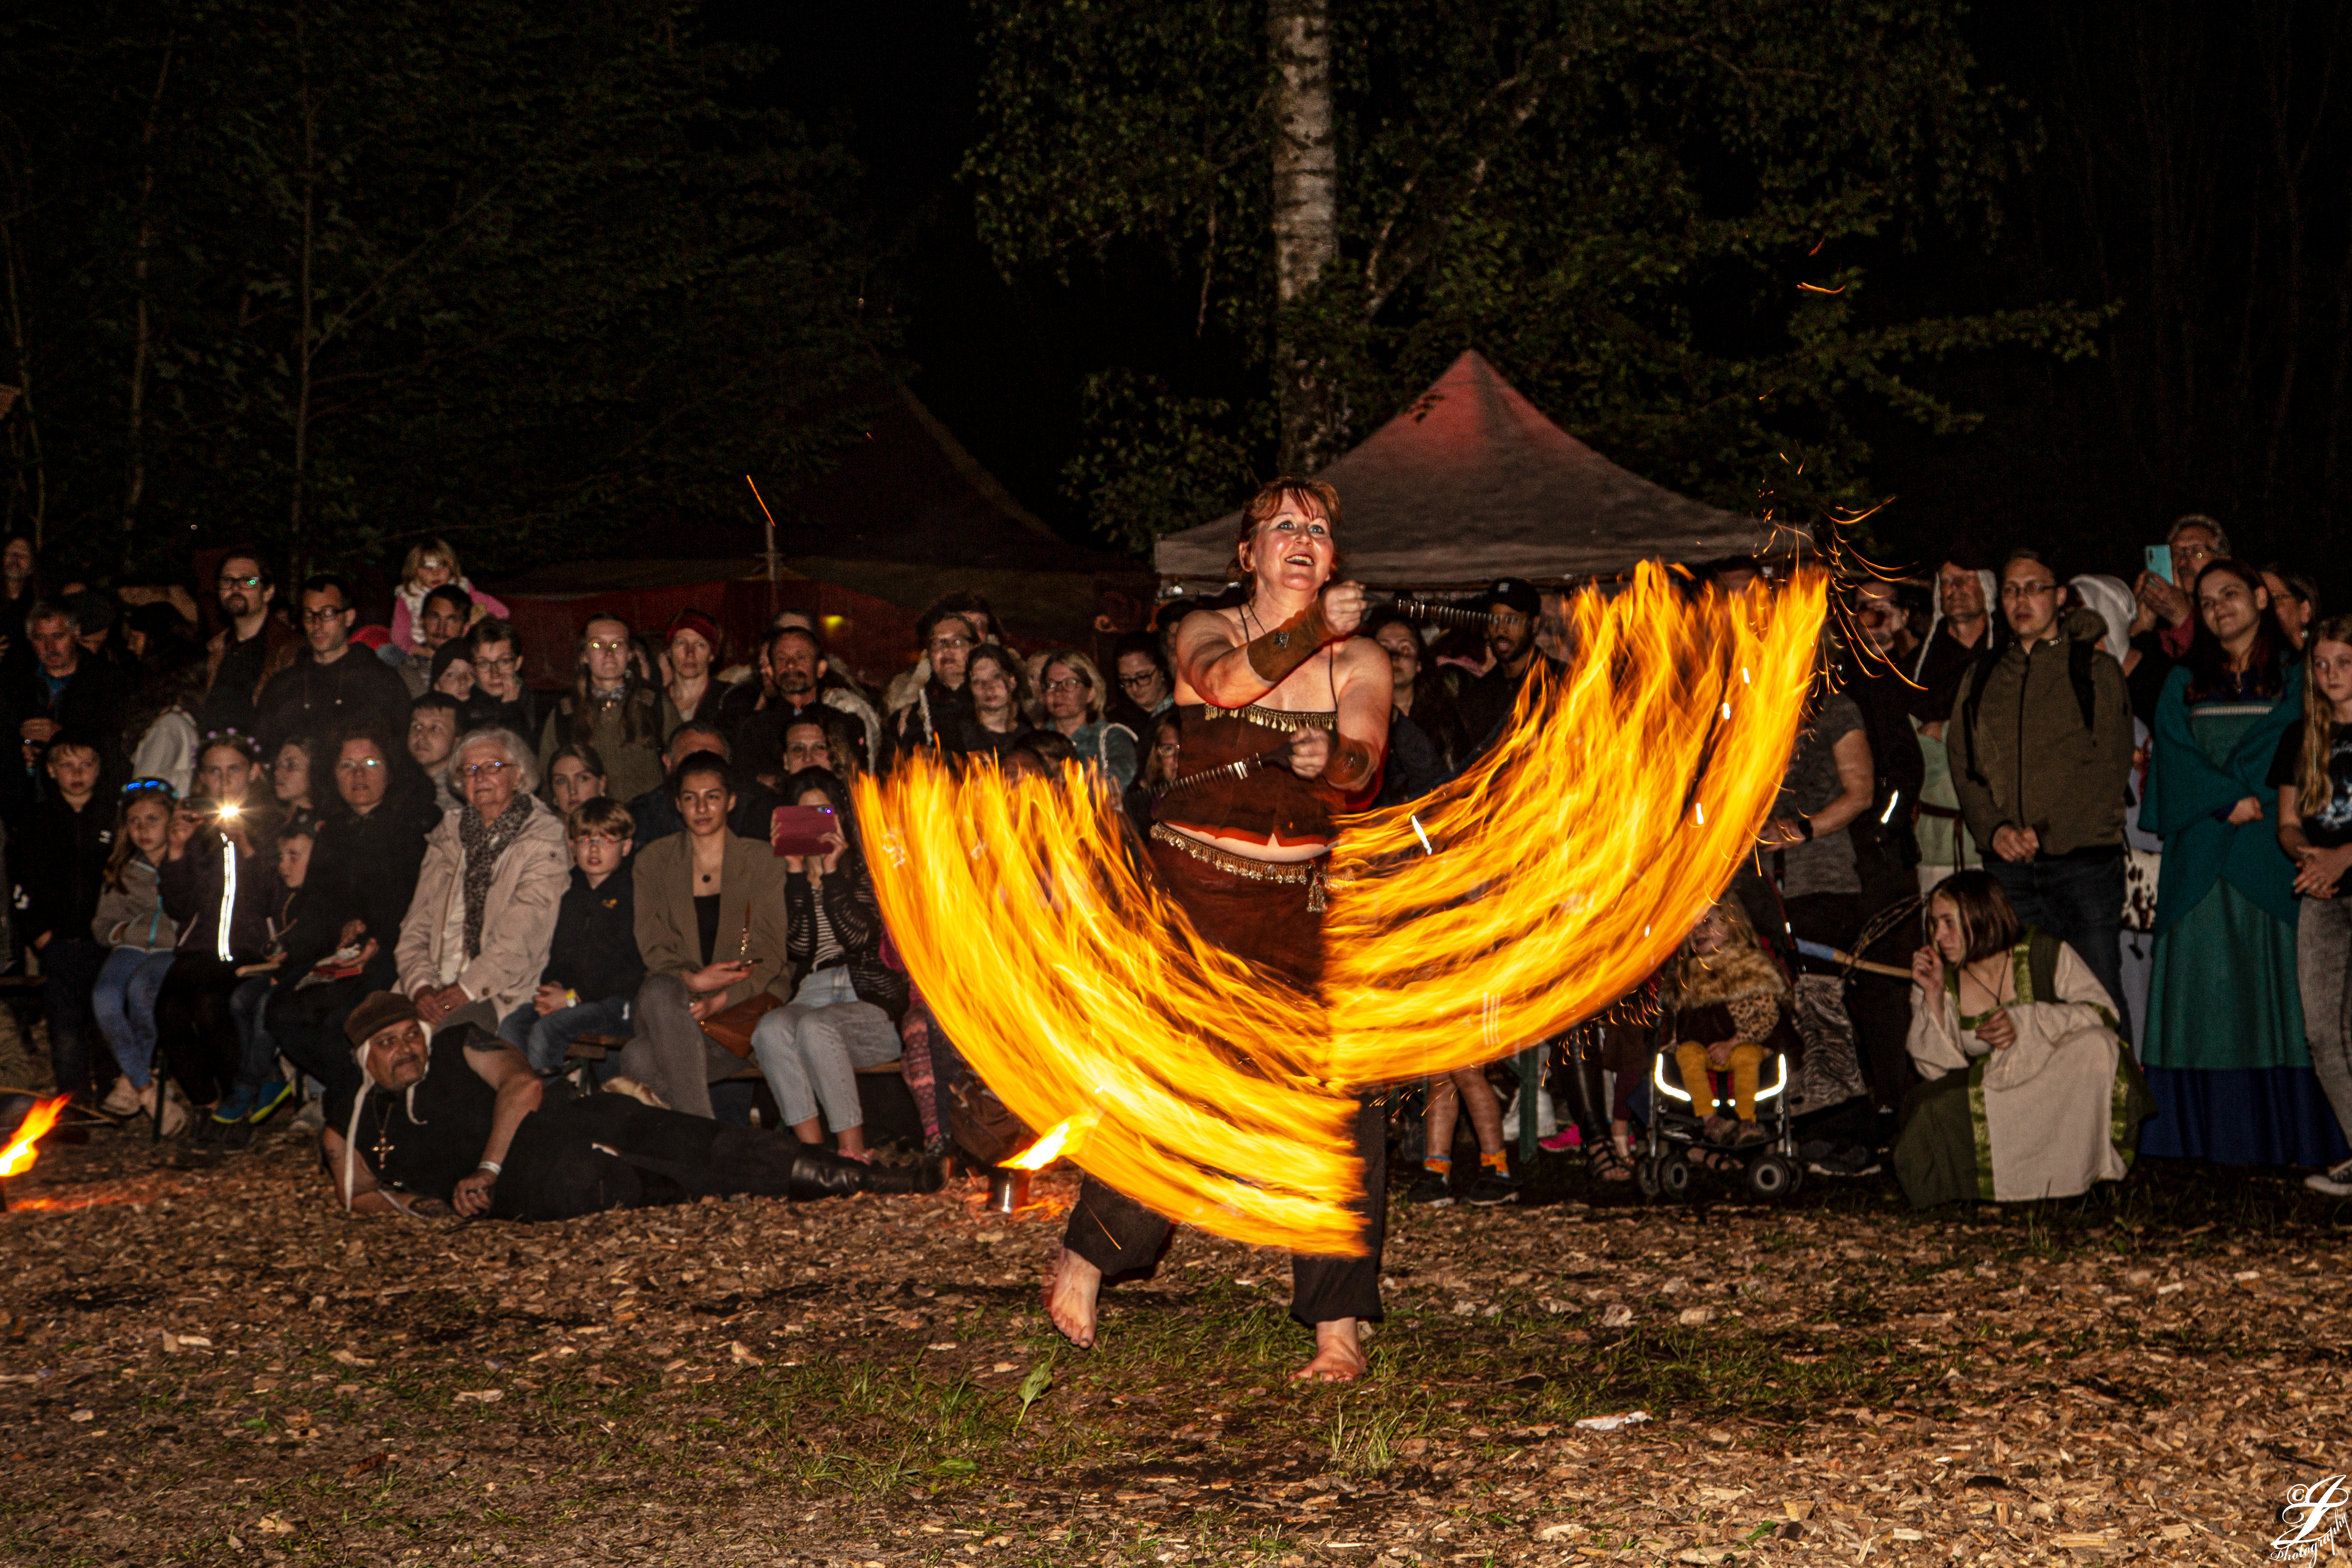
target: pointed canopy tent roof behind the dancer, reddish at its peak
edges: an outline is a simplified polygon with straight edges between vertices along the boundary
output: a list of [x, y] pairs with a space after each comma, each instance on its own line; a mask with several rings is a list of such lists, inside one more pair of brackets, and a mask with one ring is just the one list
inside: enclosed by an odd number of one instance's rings
[[[1611, 576], [1773, 543], [1773, 524], [1635, 477], [1548, 421], [1477, 350], [1324, 468], [1348, 574], [1376, 588]], [[1223, 583], [1240, 512], [1160, 541], [1162, 576]], [[1788, 538], [1785, 531], [1783, 541]]]

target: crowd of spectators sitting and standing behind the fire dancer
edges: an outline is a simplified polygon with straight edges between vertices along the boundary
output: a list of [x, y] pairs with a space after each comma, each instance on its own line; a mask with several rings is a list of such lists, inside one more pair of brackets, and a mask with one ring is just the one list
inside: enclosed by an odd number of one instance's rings
[[[779, 1135], [863, 1164], [861, 1074], [898, 1063], [927, 1154], [1002, 1143], [889, 945], [851, 783], [915, 752], [1075, 764], [1148, 827], [1183, 778], [1169, 649], [1190, 597], [1098, 663], [1023, 656], [985, 599], [948, 595], [873, 686], [807, 616], [750, 649], [691, 609], [597, 616], [569, 682], [534, 691], [506, 607], [442, 541], [405, 559], [388, 628], [360, 625], [348, 581], [282, 585], [233, 550], [209, 642], [167, 602], [52, 592], [21, 538], [0, 567], [12, 947], [54, 1081], [223, 1150], [280, 1114], [360, 1117], [447, 1041], [463, 1114], [501, 1138], [524, 1079], [583, 1074], [699, 1121], [757, 1103]], [[1717, 562], [1693, 592], [1759, 571]], [[2352, 1194], [2352, 618], [2239, 562], [2209, 517], [2133, 581], [1955, 545], [1917, 592], [1839, 595], [1757, 853], [1658, 976], [1538, 1041], [1543, 1147], [1628, 1180], [1663, 1053], [1719, 1091], [1698, 1161], [1738, 1168], [1771, 1143], [1757, 1095], [1778, 1056], [1802, 1159], [1893, 1164], [1919, 1201], [2065, 1197], [2136, 1152], [2319, 1166]], [[1395, 691], [1364, 806], [1465, 771], [1573, 658], [1557, 590], [1503, 581], [1458, 609], [1451, 630], [1395, 609], [1362, 628]], [[779, 806], [823, 827], [771, 851]], [[1406, 1201], [1517, 1197], [1510, 1088], [1477, 1070], [1409, 1086]], [[696, 1180], [710, 1159], [767, 1168], [633, 1126]], [[353, 1128], [325, 1133], [355, 1204], [379, 1190], [360, 1166], [381, 1171]], [[496, 1211], [496, 1175], [459, 1161], [452, 1201], [475, 1180], [468, 1201]], [[586, 1201], [583, 1180], [508, 1211]]]

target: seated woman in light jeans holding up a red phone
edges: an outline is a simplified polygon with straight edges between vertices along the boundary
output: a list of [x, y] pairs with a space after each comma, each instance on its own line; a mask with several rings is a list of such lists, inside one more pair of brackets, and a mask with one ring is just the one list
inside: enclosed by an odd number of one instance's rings
[[786, 780], [786, 797], [830, 811], [835, 830], [828, 853], [783, 858], [793, 922], [786, 950], [807, 978], [793, 1006], [760, 1020], [750, 1048], [795, 1138], [818, 1143], [830, 1126], [842, 1154], [866, 1159], [856, 1070], [896, 1060], [906, 971], [882, 961], [882, 905], [856, 842], [849, 790], [826, 769], [802, 769]]

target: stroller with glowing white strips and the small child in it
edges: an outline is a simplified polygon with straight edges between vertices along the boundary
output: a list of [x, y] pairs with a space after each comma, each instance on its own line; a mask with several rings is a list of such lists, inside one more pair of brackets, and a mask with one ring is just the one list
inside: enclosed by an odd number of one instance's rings
[[[1682, 1197], [1693, 1164], [1743, 1171], [1757, 1197], [1795, 1192], [1799, 1164], [1785, 1088], [1802, 1044], [1788, 976], [1764, 952], [1736, 898], [1710, 905], [1691, 929], [1682, 954], [1668, 964], [1658, 1004], [1649, 1138], [1635, 1166], [1642, 1192]], [[1776, 1070], [1771, 1081], [1764, 1081], [1766, 1067]], [[1717, 1077], [1729, 1079], [1729, 1117]]]

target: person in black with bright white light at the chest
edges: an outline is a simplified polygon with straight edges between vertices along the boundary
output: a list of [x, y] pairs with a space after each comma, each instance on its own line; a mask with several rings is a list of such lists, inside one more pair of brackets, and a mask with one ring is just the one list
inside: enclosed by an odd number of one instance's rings
[[[223, 750], [205, 750], [200, 778]], [[268, 806], [200, 792], [179, 804], [165, 837], [158, 884], [179, 940], [155, 992], [155, 1041], [198, 1110], [200, 1131], [233, 1093], [245, 1065], [245, 1041], [230, 1013], [242, 980], [238, 969], [268, 957], [270, 919], [285, 907], [273, 816]]]

